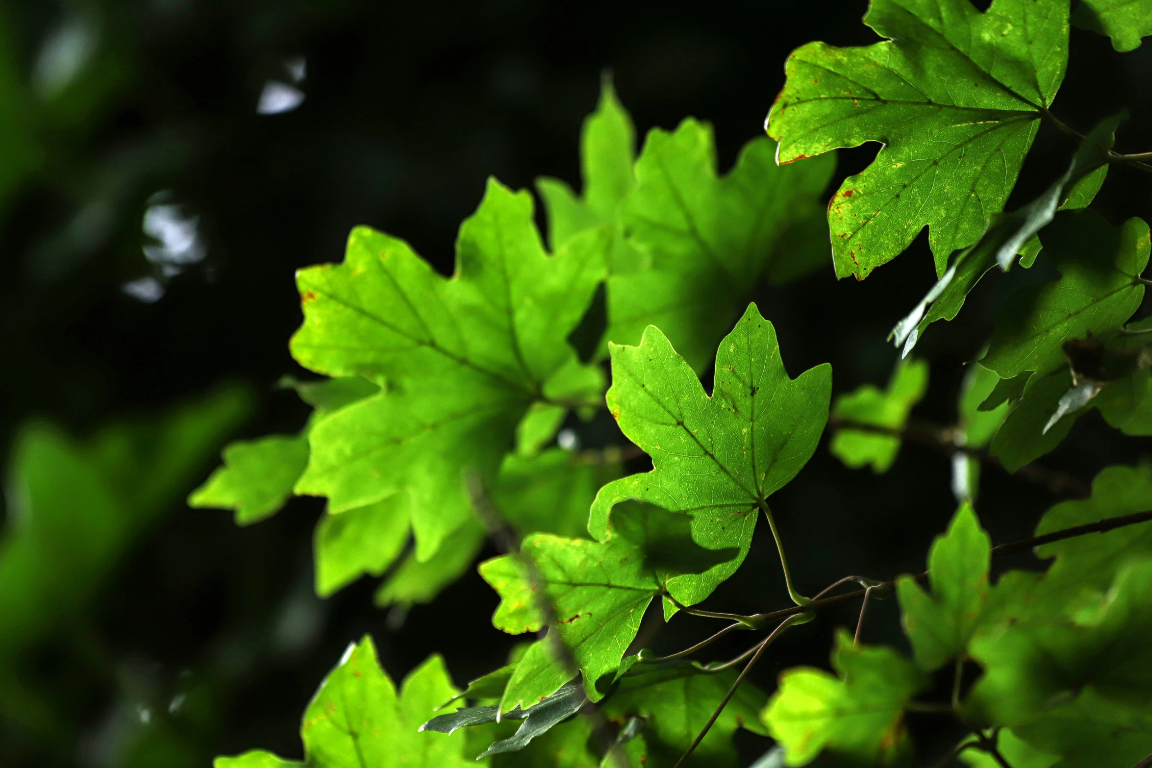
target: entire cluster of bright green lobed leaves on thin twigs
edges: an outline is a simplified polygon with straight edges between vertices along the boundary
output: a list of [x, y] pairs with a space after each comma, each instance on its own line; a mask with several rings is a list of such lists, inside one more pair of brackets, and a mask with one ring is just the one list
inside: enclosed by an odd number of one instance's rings
[[[325, 496], [318, 593], [385, 575], [384, 604], [430, 600], [491, 535], [508, 548], [479, 565], [500, 596], [493, 624], [537, 633], [463, 692], [432, 659], [399, 697], [371, 641], [353, 646], [305, 713], [305, 765], [475, 754], [495, 766], [734, 765], [738, 727], [771, 735], [791, 766], [821, 753], [893, 765], [911, 750], [909, 712], [954, 718], [967, 736], [950, 756], [973, 765], [1123, 766], [1152, 752], [1152, 523], [1046, 543], [1047, 572], [992, 584], [972, 508], [980, 461], [1016, 471], [1089, 408], [1126, 434], [1152, 434], [1139, 335], [1152, 326], [1126, 326], [1149, 282], [1149, 228], [1114, 228], [1087, 208], [1111, 165], [1142, 162], [1112, 150], [1120, 117], [1081, 137], [1040, 198], [1003, 212], [1041, 123], [1074, 132], [1049, 111], [1069, 24], [1130, 48], [1126, 14], [1146, 5], [1084, 0], [1073, 15], [1067, 0], [985, 12], [873, 0], [865, 23], [886, 39], [797, 50], [766, 126], [776, 147], [749, 143], [727, 176], [711, 129], [694, 120], [651, 131], [634, 157], [631, 122], [606, 85], [584, 127], [583, 193], [538, 184], [548, 250], [531, 195], [493, 180], [461, 227], [452, 277], [363, 228], [343, 264], [303, 271], [291, 350], [328, 378], [289, 383], [313, 416], [296, 436], [227, 448], [190, 502], [248, 524], [291, 494]], [[761, 276], [818, 264], [827, 153], [864, 142], [884, 146], [827, 207], [833, 263], [864, 279], [929, 229], [939, 281], [894, 329], [905, 356], [992, 267], [1043, 259], [1059, 277], [1008, 302], [953, 427], [910, 421], [927, 388], [920, 360], [902, 362], [886, 390], [838, 398], [831, 449], [846, 464], [885, 472], [903, 440], [935, 442], [954, 454], [962, 503], [926, 575], [888, 585], [912, 657], [842, 633], [835, 674], [787, 670], [768, 701], [732, 664], [684, 661], [706, 644], [665, 657], [635, 645], [657, 598], [666, 621], [764, 625], [767, 615], [694, 608], [740, 567], [761, 515], [796, 606], [774, 614], [785, 621], [745, 654], [749, 667], [819, 608], [791, 583], [768, 497], [816, 450], [831, 368], [790, 378], [772, 324], [755, 304], [737, 313]], [[699, 377], [712, 350], [708, 391]], [[601, 408], [651, 471], [620, 477], [619, 449], [551, 447], [566, 419]], [[1052, 508], [1038, 534], [1150, 507], [1152, 469], [1114, 466], [1091, 499]], [[885, 587], [863, 583], [865, 604]], [[950, 691], [938, 695], [933, 676], [949, 664]], [[435, 714], [460, 699], [472, 706]], [[217, 765], [298, 763], [251, 752]]]

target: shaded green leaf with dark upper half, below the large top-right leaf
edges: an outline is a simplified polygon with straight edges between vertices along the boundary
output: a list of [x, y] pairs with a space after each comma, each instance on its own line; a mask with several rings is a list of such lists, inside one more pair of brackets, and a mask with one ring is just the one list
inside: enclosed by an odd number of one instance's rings
[[996, 320], [980, 364], [1010, 379], [1064, 364], [1062, 344], [1114, 335], [1139, 307], [1139, 274], [1149, 261], [1149, 227], [1129, 219], [1114, 229], [1092, 210], [1061, 213], [1049, 225], [1048, 258], [1061, 277], [1021, 289]]

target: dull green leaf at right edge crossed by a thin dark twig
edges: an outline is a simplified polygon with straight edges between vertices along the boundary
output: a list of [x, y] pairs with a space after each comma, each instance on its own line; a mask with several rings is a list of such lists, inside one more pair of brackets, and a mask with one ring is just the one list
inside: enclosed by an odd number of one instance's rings
[[[1036, 534], [1044, 535], [1149, 509], [1152, 509], [1152, 464], [1108, 466], [1092, 481], [1090, 499], [1054, 505], [1040, 518]], [[1126, 562], [1152, 556], [1152, 523], [1053, 541], [1037, 547], [1036, 555], [1055, 558], [1044, 579], [1044, 587], [1049, 593], [1104, 590]]]

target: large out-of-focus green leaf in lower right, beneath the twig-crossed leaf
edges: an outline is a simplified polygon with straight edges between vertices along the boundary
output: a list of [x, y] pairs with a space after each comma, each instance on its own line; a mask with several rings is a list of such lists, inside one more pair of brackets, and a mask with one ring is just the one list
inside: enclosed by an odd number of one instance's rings
[[[1043, 581], [1038, 588], [1043, 594]], [[1037, 601], [1034, 610], [970, 646], [984, 667], [973, 708], [1029, 742], [1020, 725], [1085, 689], [1130, 706], [1152, 705], [1152, 560], [1124, 563], [1106, 593], [1066, 594], [1062, 602]]]

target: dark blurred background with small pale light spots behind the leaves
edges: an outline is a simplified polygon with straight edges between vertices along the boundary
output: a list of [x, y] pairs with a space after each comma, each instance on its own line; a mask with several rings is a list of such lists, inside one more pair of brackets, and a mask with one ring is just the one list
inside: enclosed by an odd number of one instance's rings
[[[294, 271], [340, 260], [353, 226], [404, 237], [450, 272], [456, 229], [486, 176], [514, 188], [539, 175], [578, 183], [579, 126], [606, 68], [641, 135], [688, 115], [708, 120], [726, 170], [760, 135], [788, 52], [813, 39], [874, 41], [859, 23], [864, 10], [864, 0], [8, 0], [0, 450], [30, 418], [85, 435], [225, 381], [255, 393], [233, 436], [296, 432], [308, 410], [274, 387], [286, 373], [305, 374], [287, 349], [301, 321]], [[1073, 30], [1055, 105], [1066, 122], [1085, 130], [1127, 106], [1119, 147], [1146, 151], [1150, 90], [1152, 45], [1116, 54], [1106, 38]], [[1058, 176], [1073, 150], [1041, 128], [1009, 207]], [[841, 151], [832, 189], [874, 152]], [[1115, 225], [1149, 218], [1149, 181], [1113, 168], [1094, 207]], [[917, 353], [931, 360], [932, 381], [919, 418], [952, 423], [963, 363], [1010, 290], [1051, 276], [1043, 268], [991, 275], [957, 321], [926, 334]], [[922, 237], [865, 283], [838, 283], [829, 259], [799, 283], [761, 289], [758, 303], [789, 372], [831, 362], [842, 393], [887, 380], [896, 355], [885, 336], [933, 279]], [[585, 444], [621, 440], [600, 424], [581, 428]], [[1041, 461], [1090, 480], [1147, 448], [1093, 411]], [[207, 459], [181, 495], [214, 465]], [[629, 466], [644, 469], [643, 459]], [[915, 446], [880, 478], [842, 467], [821, 446], [773, 499], [801, 587], [922, 570], [955, 505], [949, 473], [946, 456]], [[1003, 541], [1028, 535], [1056, 496], [988, 469], [980, 499], [982, 519]], [[446, 655], [457, 684], [503, 663], [516, 639], [492, 629], [498, 600], [475, 573], [407, 616], [374, 609], [367, 580], [317, 599], [320, 503], [295, 500], [248, 529], [227, 512], [172, 504], [83, 610], [14, 662], [56, 716], [39, 730], [3, 721], [0, 763], [205, 766], [256, 746], [298, 756], [304, 706], [365, 631], [397, 678], [431, 651]], [[714, 608], [787, 604], [761, 529]], [[999, 565], [1037, 565], [1016, 557]], [[704, 621], [677, 617], [652, 645], [679, 649], [712, 629]], [[758, 684], [771, 691], [786, 666], [826, 664], [834, 628], [854, 622], [849, 609], [828, 611], [785, 636]], [[729, 637], [717, 657], [749, 641]], [[865, 638], [901, 642], [892, 601], [878, 604]], [[930, 753], [953, 738], [927, 722], [914, 727]], [[745, 762], [766, 746], [741, 737]]]

